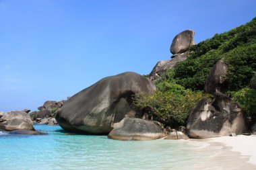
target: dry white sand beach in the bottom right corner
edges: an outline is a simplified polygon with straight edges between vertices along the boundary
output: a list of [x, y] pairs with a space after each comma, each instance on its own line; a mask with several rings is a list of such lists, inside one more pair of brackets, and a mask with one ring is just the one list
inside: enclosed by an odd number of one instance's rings
[[248, 163], [256, 165], [256, 135], [245, 136], [223, 136], [218, 138], [209, 138], [207, 142], [220, 142], [226, 146], [232, 147], [231, 151], [249, 156]]

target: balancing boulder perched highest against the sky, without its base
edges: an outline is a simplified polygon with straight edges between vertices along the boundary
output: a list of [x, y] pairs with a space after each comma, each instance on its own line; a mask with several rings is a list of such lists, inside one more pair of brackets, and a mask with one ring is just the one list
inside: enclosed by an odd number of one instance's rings
[[175, 36], [170, 46], [170, 52], [172, 52], [172, 54], [181, 54], [189, 50], [189, 46], [195, 44], [194, 34], [195, 32], [192, 30], [185, 30]]

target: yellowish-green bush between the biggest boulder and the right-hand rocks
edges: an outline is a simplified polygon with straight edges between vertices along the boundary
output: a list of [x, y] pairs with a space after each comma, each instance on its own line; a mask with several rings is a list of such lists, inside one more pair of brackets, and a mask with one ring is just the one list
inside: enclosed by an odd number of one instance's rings
[[189, 112], [203, 98], [203, 93], [166, 81], [161, 85], [162, 89], [153, 94], [136, 94], [135, 105], [139, 108], [152, 108], [153, 113], [168, 126], [185, 125]]

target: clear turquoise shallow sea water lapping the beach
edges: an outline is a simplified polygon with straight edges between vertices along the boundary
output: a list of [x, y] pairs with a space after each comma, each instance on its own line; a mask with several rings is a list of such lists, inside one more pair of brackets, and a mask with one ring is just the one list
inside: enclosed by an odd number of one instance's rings
[[197, 140], [120, 141], [35, 125], [48, 135], [0, 131], [0, 169], [256, 169], [249, 157]]

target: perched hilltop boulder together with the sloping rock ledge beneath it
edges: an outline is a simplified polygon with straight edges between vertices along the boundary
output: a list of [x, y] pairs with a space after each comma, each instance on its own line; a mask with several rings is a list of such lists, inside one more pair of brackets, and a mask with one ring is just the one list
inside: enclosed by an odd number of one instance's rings
[[192, 30], [185, 30], [175, 36], [170, 46], [170, 52], [173, 54], [170, 58], [172, 59], [161, 60], [156, 63], [154, 69], [150, 73], [150, 79], [152, 81], [160, 78], [164, 71], [174, 68], [178, 62], [187, 59], [187, 50], [189, 50], [189, 46], [194, 44], [194, 34], [195, 32]]

